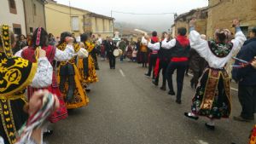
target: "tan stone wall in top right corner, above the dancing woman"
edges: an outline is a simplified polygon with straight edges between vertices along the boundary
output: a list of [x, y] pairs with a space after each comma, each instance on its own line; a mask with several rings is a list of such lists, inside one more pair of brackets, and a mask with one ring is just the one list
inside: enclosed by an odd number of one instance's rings
[[[219, 0], [210, 0], [209, 6], [217, 4]], [[216, 28], [231, 27], [233, 19], [241, 20], [241, 26], [256, 26], [256, 1], [255, 0], [232, 0], [224, 1], [216, 7], [208, 10], [207, 36], [212, 37]]]

